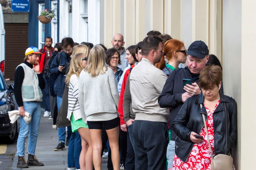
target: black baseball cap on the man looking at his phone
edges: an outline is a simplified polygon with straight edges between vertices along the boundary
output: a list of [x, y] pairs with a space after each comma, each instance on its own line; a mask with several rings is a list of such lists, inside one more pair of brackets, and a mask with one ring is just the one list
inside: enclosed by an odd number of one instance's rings
[[194, 41], [187, 49], [187, 54], [203, 59], [209, 55], [208, 46], [204, 41]]

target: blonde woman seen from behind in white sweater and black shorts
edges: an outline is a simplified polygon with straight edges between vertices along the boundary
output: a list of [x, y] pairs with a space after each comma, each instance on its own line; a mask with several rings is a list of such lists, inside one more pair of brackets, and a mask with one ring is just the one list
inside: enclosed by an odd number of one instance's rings
[[105, 127], [111, 148], [114, 170], [120, 169], [119, 155], [119, 93], [113, 70], [105, 65], [105, 51], [95, 45], [89, 53], [87, 66], [80, 73], [79, 101], [82, 118], [88, 124], [95, 170], [101, 169], [101, 129]]

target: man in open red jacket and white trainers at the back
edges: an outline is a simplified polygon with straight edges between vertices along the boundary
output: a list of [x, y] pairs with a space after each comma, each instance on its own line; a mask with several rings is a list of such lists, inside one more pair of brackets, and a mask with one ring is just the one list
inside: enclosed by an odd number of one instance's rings
[[39, 56], [40, 72], [43, 74], [43, 78], [46, 83], [45, 89], [42, 90], [43, 102], [45, 103], [44, 117], [49, 117], [50, 116], [49, 79], [46, 78], [44, 70], [45, 70], [48, 60], [52, 57], [52, 54], [54, 52], [54, 49], [52, 48], [52, 38], [51, 37], [47, 37], [45, 39], [45, 46], [44, 46], [44, 48], [40, 49], [40, 52], [43, 53]]

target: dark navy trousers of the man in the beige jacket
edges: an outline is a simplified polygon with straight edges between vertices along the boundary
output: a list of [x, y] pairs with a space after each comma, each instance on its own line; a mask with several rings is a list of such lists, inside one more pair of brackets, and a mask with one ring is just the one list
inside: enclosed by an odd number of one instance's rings
[[168, 128], [163, 122], [135, 120], [133, 125], [135, 169], [165, 170]]

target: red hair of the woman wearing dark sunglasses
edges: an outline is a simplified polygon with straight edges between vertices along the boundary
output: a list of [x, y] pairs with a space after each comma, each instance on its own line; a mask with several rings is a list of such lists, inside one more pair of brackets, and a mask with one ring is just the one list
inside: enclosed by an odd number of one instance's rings
[[184, 43], [177, 39], [170, 39], [166, 41], [163, 47], [165, 58], [170, 60], [173, 56], [174, 51], [179, 51], [184, 46]]

